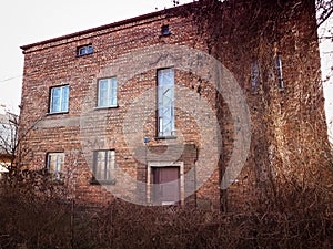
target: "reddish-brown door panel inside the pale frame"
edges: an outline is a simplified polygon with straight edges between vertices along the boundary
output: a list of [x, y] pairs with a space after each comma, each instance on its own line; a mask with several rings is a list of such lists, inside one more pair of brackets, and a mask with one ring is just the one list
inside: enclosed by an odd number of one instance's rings
[[180, 168], [152, 167], [153, 201], [173, 205], [180, 201]]

